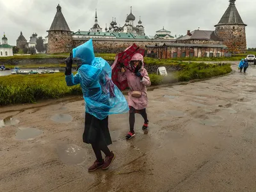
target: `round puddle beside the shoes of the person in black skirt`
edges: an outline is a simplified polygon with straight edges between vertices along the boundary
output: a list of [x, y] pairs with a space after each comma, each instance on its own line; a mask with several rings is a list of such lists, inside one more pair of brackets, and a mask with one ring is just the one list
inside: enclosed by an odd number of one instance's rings
[[86, 150], [74, 144], [60, 145], [57, 148], [60, 160], [65, 164], [83, 163], [86, 157]]

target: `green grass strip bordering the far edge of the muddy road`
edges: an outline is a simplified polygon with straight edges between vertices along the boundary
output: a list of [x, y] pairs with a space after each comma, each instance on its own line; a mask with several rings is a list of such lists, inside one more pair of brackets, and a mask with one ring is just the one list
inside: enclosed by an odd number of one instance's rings
[[[150, 74], [152, 85], [204, 79], [231, 72], [230, 65], [219, 66], [205, 63], [178, 63], [176, 65], [182, 65], [183, 70], [174, 72], [167, 77]], [[44, 99], [58, 99], [68, 95], [82, 95], [82, 92], [79, 85], [68, 87], [63, 73], [0, 77], [1, 106], [26, 102], [33, 103]]]

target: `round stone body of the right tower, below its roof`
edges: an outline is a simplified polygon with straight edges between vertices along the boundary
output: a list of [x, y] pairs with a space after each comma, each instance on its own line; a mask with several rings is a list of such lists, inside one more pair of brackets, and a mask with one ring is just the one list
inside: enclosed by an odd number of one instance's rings
[[243, 25], [217, 26], [216, 35], [223, 39], [228, 51], [243, 53], [246, 51], [246, 33]]

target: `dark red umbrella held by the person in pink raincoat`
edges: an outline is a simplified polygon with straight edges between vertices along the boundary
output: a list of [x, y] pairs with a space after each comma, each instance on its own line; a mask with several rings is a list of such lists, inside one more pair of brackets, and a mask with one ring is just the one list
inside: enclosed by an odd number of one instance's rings
[[112, 81], [113, 81], [113, 83], [115, 83], [115, 85], [120, 90], [125, 90], [125, 88], [127, 88], [127, 86], [128, 86], [127, 81], [123, 81], [121, 83], [118, 82], [118, 70], [119, 71], [121, 70], [120, 65], [121, 65], [121, 63], [123, 63], [125, 68], [127, 68], [128, 70], [131, 70], [129, 68], [129, 62], [131, 61], [132, 56], [135, 53], [140, 53], [144, 56], [145, 49], [140, 49], [140, 47], [138, 47], [136, 44], [132, 44], [130, 47], [125, 49], [125, 51], [116, 54], [115, 61], [114, 61], [113, 65], [111, 66]]

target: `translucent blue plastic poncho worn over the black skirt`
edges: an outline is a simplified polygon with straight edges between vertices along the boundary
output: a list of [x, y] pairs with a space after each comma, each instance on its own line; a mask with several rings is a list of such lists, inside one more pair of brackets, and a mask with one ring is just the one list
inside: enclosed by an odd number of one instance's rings
[[111, 80], [111, 67], [102, 58], [95, 58], [92, 39], [73, 49], [73, 60], [79, 61], [77, 74], [66, 76], [67, 86], [81, 85], [86, 113], [102, 120], [111, 114], [127, 113], [127, 101]]

